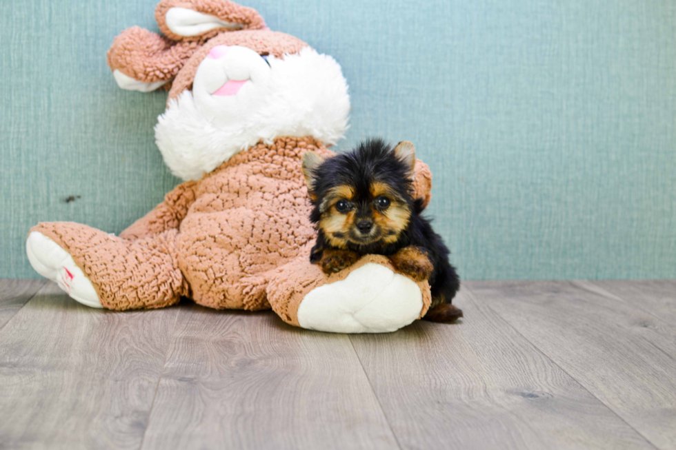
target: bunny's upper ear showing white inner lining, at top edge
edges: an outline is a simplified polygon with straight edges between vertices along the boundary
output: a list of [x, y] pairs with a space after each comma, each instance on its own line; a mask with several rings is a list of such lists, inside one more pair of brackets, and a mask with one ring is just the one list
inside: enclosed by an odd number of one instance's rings
[[220, 32], [266, 28], [255, 9], [229, 0], [161, 0], [155, 19], [174, 41], [203, 42]]

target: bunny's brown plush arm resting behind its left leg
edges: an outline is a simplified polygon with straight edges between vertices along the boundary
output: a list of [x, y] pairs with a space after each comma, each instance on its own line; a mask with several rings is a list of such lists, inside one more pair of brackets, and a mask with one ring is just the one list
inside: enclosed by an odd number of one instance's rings
[[176, 229], [188, 214], [195, 201], [195, 181], [186, 181], [164, 196], [164, 201], [148, 214], [132, 223], [121, 232], [120, 237], [129, 240], [154, 236], [168, 229]]

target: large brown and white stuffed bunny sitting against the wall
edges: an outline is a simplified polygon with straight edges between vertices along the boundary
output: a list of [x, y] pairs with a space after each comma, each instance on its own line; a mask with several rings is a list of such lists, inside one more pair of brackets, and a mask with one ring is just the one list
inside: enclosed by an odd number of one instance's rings
[[[168, 89], [155, 136], [184, 182], [120, 236], [40, 223], [26, 243], [32, 267], [90, 307], [161, 308], [183, 296], [343, 333], [394, 331], [423, 316], [428, 282], [384, 256], [330, 276], [310, 264], [316, 233], [301, 158], [332, 156], [325, 146], [346, 130], [338, 63], [226, 0], [163, 0], [155, 18], [166, 37], [129, 28], [108, 64], [123, 89]], [[416, 195], [429, 201], [430, 187], [417, 161]]]

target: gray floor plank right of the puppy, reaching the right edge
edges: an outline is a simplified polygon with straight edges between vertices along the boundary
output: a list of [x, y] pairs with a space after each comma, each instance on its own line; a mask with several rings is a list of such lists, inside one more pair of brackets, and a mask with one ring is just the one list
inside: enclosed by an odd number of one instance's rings
[[676, 447], [672, 328], [579, 283], [466, 286], [656, 447]]

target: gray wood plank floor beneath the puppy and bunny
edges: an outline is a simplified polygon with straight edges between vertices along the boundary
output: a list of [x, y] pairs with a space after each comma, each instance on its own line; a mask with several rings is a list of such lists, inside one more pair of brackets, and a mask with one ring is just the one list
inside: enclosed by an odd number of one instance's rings
[[675, 280], [466, 282], [455, 303], [455, 325], [345, 336], [0, 280], [0, 448], [676, 448]]

